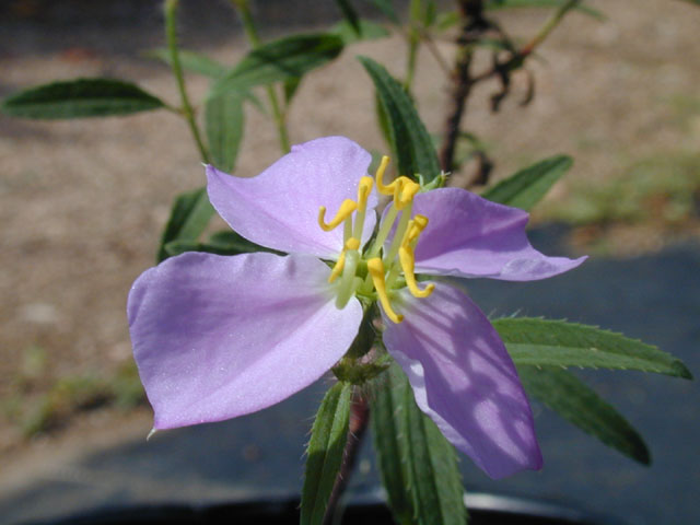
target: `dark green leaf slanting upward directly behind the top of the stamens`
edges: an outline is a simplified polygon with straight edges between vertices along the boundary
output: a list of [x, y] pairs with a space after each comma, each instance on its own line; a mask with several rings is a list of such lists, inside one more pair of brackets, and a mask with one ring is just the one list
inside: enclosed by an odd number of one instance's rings
[[389, 124], [392, 148], [401, 175], [421, 174], [429, 183], [440, 175], [433, 142], [404, 88], [377, 62], [358, 57], [374, 82]]

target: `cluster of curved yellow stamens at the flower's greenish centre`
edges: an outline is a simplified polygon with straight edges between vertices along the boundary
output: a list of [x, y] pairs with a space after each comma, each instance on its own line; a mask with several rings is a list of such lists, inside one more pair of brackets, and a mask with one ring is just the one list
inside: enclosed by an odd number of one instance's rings
[[[425, 215], [411, 218], [413, 197], [420, 185], [408, 177], [398, 177], [384, 185], [384, 172], [389, 158], [382, 158], [374, 179], [362, 177], [358, 185], [358, 200], [346, 199], [329, 222], [326, 222], [326, 207], [318, 209], [318, 225], [325, 232], [343, 225], [343, 248], [340, 252], [328, 282], [338, 279], [336, 305], [342, 308], [355, 293], [361, 296], [375, 298], [382, 303], [387, 317], [394, 323], [404, 320], [392, 307], [390, 298], [395, 288], [409, 289], [416, 298], [427, 298], [435, 288], [434, 284], [421, 289], [413, 272], [416, 266], [415, 249], [421, 232], [428, 225]], [[363, 252], [361, 246], [362, 230], [366, 215], [368, 198], [376, 180], [376, 189], [382, 195], [393, 197], [390, 208], [382, 221], [373, 242]], [[354, 214], [354, 217], [353, 217]], [[388, 247], [385, 242], [396, 225], [394, 237]]]

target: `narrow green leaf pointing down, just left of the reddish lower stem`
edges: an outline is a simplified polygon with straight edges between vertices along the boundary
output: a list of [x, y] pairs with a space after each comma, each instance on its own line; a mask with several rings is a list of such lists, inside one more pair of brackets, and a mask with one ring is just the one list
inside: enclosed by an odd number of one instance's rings
[[342, 464], [348, 440], [352, 385], [336, 383], [320, 404], [311, 431], [302, 489], [302, 525], [320, 524]]

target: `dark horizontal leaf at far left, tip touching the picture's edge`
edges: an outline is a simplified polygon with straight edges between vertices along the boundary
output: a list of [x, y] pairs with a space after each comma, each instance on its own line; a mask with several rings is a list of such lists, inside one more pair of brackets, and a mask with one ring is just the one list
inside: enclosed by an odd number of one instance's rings
[[78, 79], [31, 88], [8, 96], [0, 110], [13, 117], [61, 119], [129, 115], [165, 107], [136, 84], [113, 79]]

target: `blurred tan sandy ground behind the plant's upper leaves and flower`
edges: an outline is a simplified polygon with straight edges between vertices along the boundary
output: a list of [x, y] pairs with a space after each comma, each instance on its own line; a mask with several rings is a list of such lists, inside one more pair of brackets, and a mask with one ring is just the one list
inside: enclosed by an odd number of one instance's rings
[[[633, 160], [698, 150], [700, 114], [679, 116], [669, 101], [699, 95], [700, 9], [668, 0], [592, 3], [608, 20], [574, 14], [555, 32], [540, 49], [541, 59], [530, 65], [537, 95], [529, 106], [517, 104], [522, 78], [498, 115], [488, 109], [495, 86], [482, 86], [470, 101], [467, 127], [490, 144], [497, 178], [567, 152], [575, 158], [569, 182], [596, 185]], [[545, 19], [537, 11], [502, 16], [523, 36]], [[54, 79], [110, 75], [176, 104], [168, 70], [137, 52], [162, 45], [158, 24], [158, 15], [147, 16], [133, 34], [128, 25], [54, 27], [55, 34], [42, 25], [7, 26], [0, 32], [0, 95]], [[187, 28], [186, 21], [183, 25]], [[186, 32], [186, 43], [235, 63], [246, 44], [236, 31], [217, 27], [212, 42], [200, 27]], [[447, 42], [439, 47], [450, 56]], [[372, 56], [396, 74], [404, 70], [398, 37], [347, 49], [305, 79], [290, 115], [293, 142], [339, 133], [368, 149], [384, 148], [371, 82], [355, 55]], [[446, 82], [428, 54], [421, 55], [419, 71], [419, 109], [438, 131]], [[192, 75], [188, 89], [200, 100], [207, 81]], [[280, 152], [271, 124], [256, 110], [247, 116], [236, 172], [254, 175]], [[129, 366], [129, 287], [153, 264], [173, 198], [202, 184], [186, 126], [165, 112], [69, 122], [0, 117], [0, 452], [22, 443], [26, 448], [23, 418], [59, 378], [107, 378]], [[568, 188], [562, 184], [552, 198], [564, 197]], [[658, 236], [649, 237], [637, 233], [627, 242], [657, 247]], [[32, 355], [40, 362], [33, 364]], [[46, 450], [47, 443], [74, 444], [78, 438], [83, 444], [90, 435], [98, 442], [114, 427], [145, 432], [147, 411], [142, 407], [129, 418], [103, 408], [71, 418], [28, 445]]]

